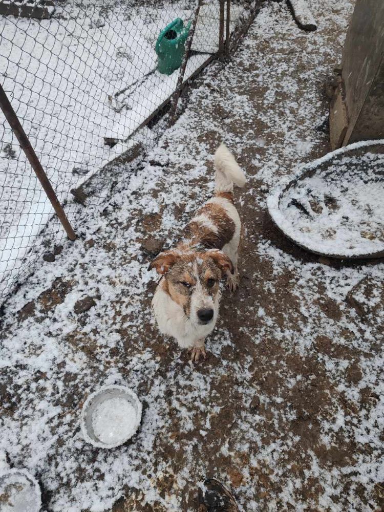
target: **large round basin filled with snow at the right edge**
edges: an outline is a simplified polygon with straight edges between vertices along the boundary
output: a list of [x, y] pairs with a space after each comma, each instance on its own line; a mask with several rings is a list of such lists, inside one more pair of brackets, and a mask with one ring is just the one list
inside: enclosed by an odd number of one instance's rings
[[304, 165], [267, 205], [297, 245], [333, 258], [384, 254], [384, 143], [351, 144]]

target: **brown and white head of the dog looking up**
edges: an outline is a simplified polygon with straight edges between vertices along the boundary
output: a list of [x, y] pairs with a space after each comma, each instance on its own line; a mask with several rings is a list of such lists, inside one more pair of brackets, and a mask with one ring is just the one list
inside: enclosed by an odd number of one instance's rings
[[164, 275], [163, 289], [179, 304], [196, 325], [215, 322], [220, 298], [219, 281], [233, 265], [219, 250], [182, 252], [171, 249], [160, 253], [150, 269]]

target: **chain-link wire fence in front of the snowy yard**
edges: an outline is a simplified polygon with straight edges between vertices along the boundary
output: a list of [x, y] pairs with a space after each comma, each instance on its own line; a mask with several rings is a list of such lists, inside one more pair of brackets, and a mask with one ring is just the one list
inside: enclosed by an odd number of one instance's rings
[[[249, 0], [0, 0], [0, 83], [75, 231], [77, 202], [92, 208], [108, 194], [99, 170], [154, 144], [169, 100], [229, 53], [229, 34], [240, 34], [255, 8]], [[157, 46], [177, 18], [183, 23]], [[188, 22], [195, 31], [186, 39]], [[184, 66], [176, 44], [177, 68], [166, 74], [161, 51], [174, 39], [186, 48]], [[20, 271], [66, 235], [1, 111], [0, 120], [1, 303]], [[96, 192], [86, 200], [90, 178]]]

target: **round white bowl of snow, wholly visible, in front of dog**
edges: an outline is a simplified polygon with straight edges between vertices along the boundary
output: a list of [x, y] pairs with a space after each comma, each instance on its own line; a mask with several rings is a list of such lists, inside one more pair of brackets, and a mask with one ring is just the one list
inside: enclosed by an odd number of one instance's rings
[[[122, 406], [114, 407], [117, 405]], [[119, 410], [120, 409], [120, 410]], [[108, 429], [112, 432], [115, 424], [124, 422], [124, 410], [133, 409], [133, 417], [126, 417], [126, 424], [121, 436], [118, 439], [112, 438], [111, 442], [105, 441], [108, 437]], [[105, 414], [108, 411], [108, 415]], [[80, 424], [81, 431], [84, 439], [97, 448], [115, 448], [124, 444], [127, 440], [131, 439], [137, 432], [141, 421], [142, 406], [136, 393], [125, 386], [103, 386], [98, 391], [92, 393], [84, 402], [81, 415]], [[95, 422], [98, 422], [101, 417], [101, 422], [105, 425], [107, 432], [100, 439], [100, 434], [97, 432]], [[95, 432], [96, 430], [96, 432]], [[100, 436], [100, 437], [98, 437]]]

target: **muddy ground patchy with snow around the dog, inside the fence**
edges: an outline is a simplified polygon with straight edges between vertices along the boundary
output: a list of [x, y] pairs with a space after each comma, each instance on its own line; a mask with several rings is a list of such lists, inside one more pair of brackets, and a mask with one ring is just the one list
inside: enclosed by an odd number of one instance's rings
[[[305, 253], [266, 212], [282, 176], [328, 151], [323, 86], [353, 5], [310, 5], [321, 23], [306, 34], [285, 3], [264, 4], [142, 166], [118, 169], [124, 186], [6, 304], [0, 447], [39, 479], [43, 510], [111, 510], [121, 497], [114, 512], [189, 512], [206, 476], [247, 512], [382, 507], [384, 264]], [[151, 324], [157, 276], [141, 244], [172, 243], [209, 197], [221, 140], [249, 177], [242, 279], [194, 367]], [[137, 393], [143, 418], [104, 451], [83, 441], [79, 415], [112, 383]]]

